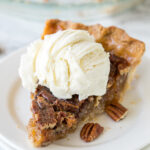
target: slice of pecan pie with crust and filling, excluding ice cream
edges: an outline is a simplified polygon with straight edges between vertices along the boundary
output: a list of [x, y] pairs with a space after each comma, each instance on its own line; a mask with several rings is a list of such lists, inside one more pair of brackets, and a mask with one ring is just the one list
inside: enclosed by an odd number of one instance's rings
[[99, 24], [86, 26], [57, 19], [46, 22], [42, 39], [47, 34], [66, 29], [87, 30], [96, 42], [103, 45], [105, 51], [110, 52], [107, 92], [101, 97], [90, 96], [82, 101], [79, 101], [78, 95], [63, 100], [54, 97], [47, 87], [38, 85], [35, 93], [31, 94], [33, 115], [28, 124], [29, 138], [37, 147], [65, 137], [75, 131], [87, 116], [100, 114], [107, 104], [120, 101], [145, 50], [143, 42], [131, 38], [117, 27], [105, 28]]

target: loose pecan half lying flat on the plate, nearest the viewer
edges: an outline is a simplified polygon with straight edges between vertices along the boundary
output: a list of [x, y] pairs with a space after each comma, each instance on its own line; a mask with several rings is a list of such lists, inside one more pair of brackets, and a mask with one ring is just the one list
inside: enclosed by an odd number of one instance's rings
[[98, 123], [87, 123], [83, 126], [80, 137], [85, 142], [91, 142], [96, 139], [102, 132], [104, 128]]

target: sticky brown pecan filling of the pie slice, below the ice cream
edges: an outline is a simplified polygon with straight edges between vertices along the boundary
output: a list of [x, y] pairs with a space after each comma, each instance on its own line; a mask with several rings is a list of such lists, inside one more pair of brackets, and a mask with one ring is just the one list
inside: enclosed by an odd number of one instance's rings
[[110, 62], [107, 92], [102, 97], [90, 96], [79, 101], [78, 95], [73, 95], [71, 99], [57, 99], [48, 88], [38, 85], [36, 92], [31, 93], [33, 117], [28, 124], [29, 137], [35, 146], [46, 146], [65, 137], [87, 116], [93, 118], [104, 111], [105, 105], [121, 99], [130, 67], [125, 59], [113, 54]]

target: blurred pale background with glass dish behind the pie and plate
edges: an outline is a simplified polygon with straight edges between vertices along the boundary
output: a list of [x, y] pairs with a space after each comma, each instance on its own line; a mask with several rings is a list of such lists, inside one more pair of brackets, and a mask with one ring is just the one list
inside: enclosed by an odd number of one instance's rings
[[0, 59], [40, 38], [50, 18], [115, 25], [150, 48], [150, 0], [0, 0]]

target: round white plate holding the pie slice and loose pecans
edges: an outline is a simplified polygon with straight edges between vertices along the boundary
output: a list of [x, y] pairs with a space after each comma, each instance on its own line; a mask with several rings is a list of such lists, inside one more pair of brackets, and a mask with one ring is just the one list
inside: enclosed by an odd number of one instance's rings
[[[26, 125], [30, 118], [29, 92], [21, 87], [18, 76], [20, 55], [25, 48], [0, 61], [0, 140], [10, 149], [33, 150], [28, 141]], [[78, 130], [67, 138], [41, 150], [134, 150], [150, 143], [150, 58], [144, 56], [138, 68], [138, 78], [124, 97], [129, 113], [116, 123], [105, 114], [95, 121], [105, 127], [94, 142], [80, 140]], [[38, 149], [40, 150], [40, 149]]]

